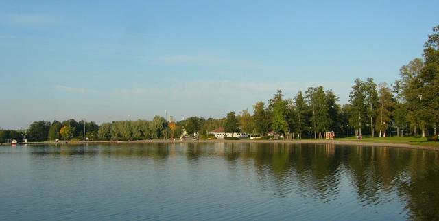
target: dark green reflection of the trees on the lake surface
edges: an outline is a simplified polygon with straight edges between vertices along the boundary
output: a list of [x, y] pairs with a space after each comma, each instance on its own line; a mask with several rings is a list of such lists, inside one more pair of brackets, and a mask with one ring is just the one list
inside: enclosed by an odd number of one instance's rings
[[[268, 148], [270, 147], [270, 148]], [[258, 182], [270, 182], [279, 196], [292, 183], [309, 196], [330, 200], [348, 177], [357, 198], [375, 205], [396, 193], [407, 202], [411, 219], [439, 218], [439, 152], [385, 147], [292, 143], [149, 143], [138, 145], [47, 146], [32, 154], [134, 158], [165, 163], [186, 157], [189, 163], [224, 159], [230, 170], [252, 165]], [[250, 169], [248, 169], [250, 170]], [[396, 200], [396, 199], [393, 199]]]

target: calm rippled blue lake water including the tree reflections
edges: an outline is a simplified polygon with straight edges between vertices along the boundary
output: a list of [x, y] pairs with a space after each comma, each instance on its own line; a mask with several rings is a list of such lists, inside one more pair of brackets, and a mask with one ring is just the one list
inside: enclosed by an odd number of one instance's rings
[[438, 220], [439, 152], [281, 143], [0, 147], [0, 220]]

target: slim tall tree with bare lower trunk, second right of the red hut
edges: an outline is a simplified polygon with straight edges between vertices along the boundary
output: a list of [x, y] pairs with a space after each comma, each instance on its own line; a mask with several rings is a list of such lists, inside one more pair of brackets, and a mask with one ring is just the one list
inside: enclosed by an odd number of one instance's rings
[[377, 84], [375, 84], [373, 78], [368, 78], [366, 82], [364, 82], [364, 94], [366, 95], [364, 99], [367, 106], [366, 116], [370, 119], [370, 135], [375, 137], [373, 123], [375, 117], [377, 117], [378, 93]]

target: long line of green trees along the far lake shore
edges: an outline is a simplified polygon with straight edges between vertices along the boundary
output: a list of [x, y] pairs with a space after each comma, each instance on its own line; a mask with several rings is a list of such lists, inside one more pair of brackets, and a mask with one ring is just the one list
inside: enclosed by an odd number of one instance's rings
[[[423, 58], [414, 58], [400, 69], [400, 79], [394, 84], [377, 84], [373, 78], [356, 79], [348, 95], [349, 102], [341, 106], [339, 98], [322, 86], [298, 91], [285, 98], [276, 91], [266, 103], [259, 101], [252, 114], [242, 110], [230, 112], [222, 119], [189, 117], [168, 122], [155, 116], [152, 121], [112, 121], [100, 126], [95, 122], [35, 121], [27, 130], [0, 130], [0, 142], [6, 139], [29, 141], [54, 139], [166, 139], [180, 137], [185, 132], [207, 137], [209, 131], [224, 128], [226, 132], [246, 132], [267, 135], [274, 131], [286, 139], [322, 138], [326, 131], [337, 136], [383, 136], [394, 132], [403, 135], [436, 135], [439, 122], [439, 26], [433, 28], [424, 45]], [[85, 131], [85, 133], [84, 133]]]

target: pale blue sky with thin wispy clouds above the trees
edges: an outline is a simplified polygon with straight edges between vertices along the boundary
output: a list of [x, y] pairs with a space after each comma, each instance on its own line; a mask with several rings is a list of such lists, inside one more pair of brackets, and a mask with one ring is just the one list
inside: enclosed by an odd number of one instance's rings
[[0, 127], [222, 117], [276, 89], [347, 96], [422, 56], [439, 1], [0, 1]]

